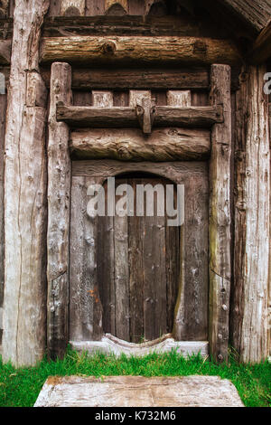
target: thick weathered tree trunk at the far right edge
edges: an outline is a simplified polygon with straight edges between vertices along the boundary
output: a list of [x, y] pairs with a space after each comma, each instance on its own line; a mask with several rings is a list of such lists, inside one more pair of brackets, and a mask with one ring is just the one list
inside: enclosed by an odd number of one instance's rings
[[259, 362], [267, 354], [270, 154], [266, 68], [250, 66], [246, 71], [237, 93], [231, 339], [241, 361]]

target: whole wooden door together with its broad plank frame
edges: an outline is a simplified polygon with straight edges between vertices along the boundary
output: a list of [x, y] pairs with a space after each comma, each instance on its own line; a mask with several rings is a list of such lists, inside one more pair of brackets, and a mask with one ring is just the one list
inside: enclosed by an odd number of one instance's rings
[[[183, 184], [181, 228], [166, 226], [157, 214], [89, 217], [89, 184], [104, 184], [107, 194], [110, 176], [116, 187], [134, 189]], [[207, 340], [208, 198], [203, 162], [72, 163], [70, 341], [99, 341], [111, 333], [138, 343], [172, 331], [177, 341]]]

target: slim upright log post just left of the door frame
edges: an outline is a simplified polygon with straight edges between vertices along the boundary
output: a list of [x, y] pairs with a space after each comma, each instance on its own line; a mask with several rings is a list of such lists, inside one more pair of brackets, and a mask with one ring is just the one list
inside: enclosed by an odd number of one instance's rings
[[71, 69], [68, 63], [51, 65], [48, 140], [47, 345], [51, 358], [61, 357], [69, 340], [69, 127], [56, 122], [56, 104], [71, 104]]

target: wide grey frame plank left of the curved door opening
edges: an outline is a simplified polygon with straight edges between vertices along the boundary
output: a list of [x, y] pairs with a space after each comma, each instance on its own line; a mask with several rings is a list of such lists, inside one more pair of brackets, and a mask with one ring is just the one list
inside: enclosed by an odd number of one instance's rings
[[97, 272], [98, 217], [90, 217], [88, 187], [100, 178], [73, 177], [70, 213], [70, 340], [101, 338], [102, 310]]

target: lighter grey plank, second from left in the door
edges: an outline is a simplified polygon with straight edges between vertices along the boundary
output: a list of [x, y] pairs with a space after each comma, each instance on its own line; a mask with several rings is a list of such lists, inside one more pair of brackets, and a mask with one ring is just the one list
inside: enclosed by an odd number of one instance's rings
[[[126, 178], [117, 178], [116, 186], [127, 184]], [[117, 201], [121, 196], [116, 196]], [[116, 288], [116, 336], [130, 340], [129, 312], [129, 260], [128, 260], [128, 218], [114, 217], [114, 250], [115, 250], [115, 288]]]

